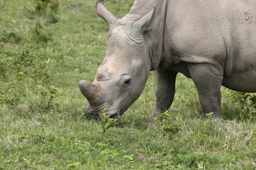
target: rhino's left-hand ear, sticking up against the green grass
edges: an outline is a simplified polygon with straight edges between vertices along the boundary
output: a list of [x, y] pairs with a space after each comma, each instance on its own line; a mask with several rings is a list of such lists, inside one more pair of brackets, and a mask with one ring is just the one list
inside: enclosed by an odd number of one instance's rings
[[111, 25], [117, 21], [117, 18], [115, 18], [109, 11], [106, 9], [106, 7], [103, 4], [103, 0], [99, 0], [96, 3], [96, 13], [105, 20], [108, 25]]

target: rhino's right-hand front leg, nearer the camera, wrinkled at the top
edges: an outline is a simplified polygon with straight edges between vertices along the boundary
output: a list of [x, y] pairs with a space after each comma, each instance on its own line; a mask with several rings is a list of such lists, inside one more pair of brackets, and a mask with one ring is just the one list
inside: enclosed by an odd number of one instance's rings
[[189, 73], [198, 90], [200, 104], [205, 114], [213, 112], [213, 117], [221, 118], [220, 87], [223, 70], [211, 64], [187, 64]]

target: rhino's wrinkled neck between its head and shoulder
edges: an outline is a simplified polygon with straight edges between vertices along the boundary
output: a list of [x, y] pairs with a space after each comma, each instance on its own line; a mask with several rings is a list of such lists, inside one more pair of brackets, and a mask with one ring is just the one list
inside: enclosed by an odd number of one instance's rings
[[[168, 0], [135, 0], [130, 15], [137, 14], [139, 20], [156, 5], [155, 22], [152, 29], [144, 32], [145, 44], [148, 46], [151, 60], [150, 71], [156, 70], [162, 59], [163, 34]], [[129, 15], [128, 14], [128, 15]]]

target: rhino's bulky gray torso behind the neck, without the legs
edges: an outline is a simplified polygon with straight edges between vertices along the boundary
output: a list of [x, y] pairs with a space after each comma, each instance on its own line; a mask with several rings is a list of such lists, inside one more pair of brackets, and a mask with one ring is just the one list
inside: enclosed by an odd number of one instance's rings
[[[166, 11], [164, 62], [219, 63], [224, 86], [255, 92], [255, 28], [253, 0], [171, 1]], [[178, 71], [187, 73], [182, 69]]]

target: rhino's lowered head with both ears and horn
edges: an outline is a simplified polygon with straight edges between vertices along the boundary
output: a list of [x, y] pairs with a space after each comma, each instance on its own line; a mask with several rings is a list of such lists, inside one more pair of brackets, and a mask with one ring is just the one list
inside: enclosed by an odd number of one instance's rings
[[89, 102], [87, 113], [98, 117], [109, 106], [110, 117], [119, 120], [139, 98], [148, 79], [151, 60], [143, 33], [153, 26], [155, 6], [140, 19], [132, 16], [135, 14], [117, 19], [99, 0], [96, 12], [109, 25], [106, 55], [94, 82], [81, 80], [79, 88]]

